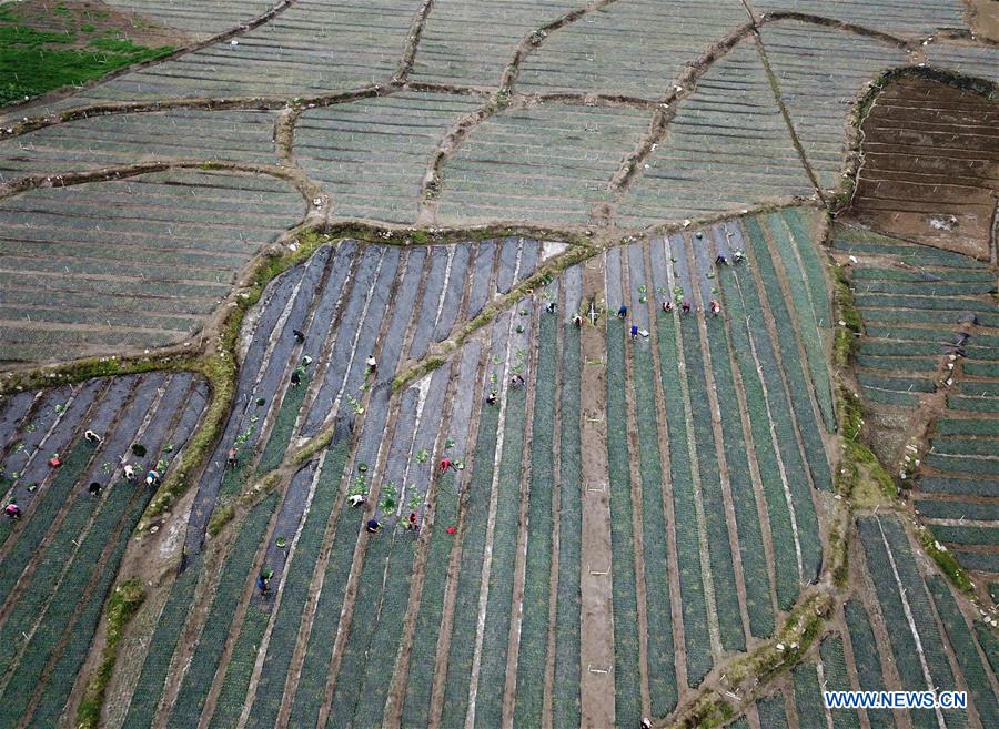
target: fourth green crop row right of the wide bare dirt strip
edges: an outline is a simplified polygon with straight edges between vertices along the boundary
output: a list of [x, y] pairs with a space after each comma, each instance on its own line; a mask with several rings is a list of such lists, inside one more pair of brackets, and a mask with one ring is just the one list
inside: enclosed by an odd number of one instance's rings
[[727, 650], [745, 650], [746, 637], [739, 615], [731, 544], [725, 518], [725, 502], [722, 496], [722, 475], [715, 450], [710, 402], [708, 401], [704, 356], [700, 352], [700, 336], [696, 320], [686, 317], [680, 322], [680, 331], [684, 336], [684, 361], [694, 424], [694, 441], [697, 445], [700, 498], [704, 504], [705, 525], [710, 535], [708, 556], [712, 565], [712, 581], [715, 587], [718, 627], [722, 630], [722, 644]]

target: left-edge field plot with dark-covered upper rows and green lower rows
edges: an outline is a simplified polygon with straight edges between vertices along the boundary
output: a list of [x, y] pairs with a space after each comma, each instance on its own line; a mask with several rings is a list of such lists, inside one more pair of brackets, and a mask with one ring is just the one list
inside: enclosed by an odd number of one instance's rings
[[3, 503], [21, 510], [0, 526], [3, 726], [59, 721], [153, 495], [145, 474], [169, 473], [206, 401], [203, 378], [153, 373], [0, 403]]

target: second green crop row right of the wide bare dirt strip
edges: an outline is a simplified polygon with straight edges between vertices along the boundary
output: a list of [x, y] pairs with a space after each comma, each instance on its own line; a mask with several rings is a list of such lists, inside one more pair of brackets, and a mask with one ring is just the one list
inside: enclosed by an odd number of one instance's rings
[[676, 706], [673, 615], [666, 546], [667, 517], [663, 506], [663, 467], [656, 411], [655, 366], [644, 345], [633, 347], [633, 396], [638, 423], [638, 472], [642, 476], [642, 536], [645, 555], [645, 611], [648, 620], [648, 692], [652, 711], [665, 716]]

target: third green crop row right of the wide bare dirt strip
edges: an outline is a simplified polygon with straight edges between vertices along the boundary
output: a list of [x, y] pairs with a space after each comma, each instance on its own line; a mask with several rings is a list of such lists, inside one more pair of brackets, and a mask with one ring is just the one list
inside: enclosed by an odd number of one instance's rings
[[[680, 387], [676, 347], [676, 320], [670, 314], [656, 316], [659, 344], [659, 376], [666, 399], [666, 429], [669, 437], [669, 467], [673, 487], [674, 528], [677, 569], [684, 616], [684, 644], [687, 655], [687, 684], [697, 686], [712, 669], [712, 641], [708, 634], [705, 583], [700, 564], [694, 476], [687, 431], [686, 406]], [[612, 470], [613, 473], [613, 470]], [[612, 502], [613, 504], [613, 502]]]

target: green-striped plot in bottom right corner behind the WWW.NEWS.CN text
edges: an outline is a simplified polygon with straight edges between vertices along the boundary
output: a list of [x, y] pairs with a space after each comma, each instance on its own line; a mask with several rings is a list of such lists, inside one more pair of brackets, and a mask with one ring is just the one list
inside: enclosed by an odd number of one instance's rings
[[[750, 727], [990, 727], [997, 721], [992, 634], [969, 619], [945, 577], [925, 568], [897, 516], [857, 522], [857, 595], [778, 691], [747, 711]], [[967, 710], [826, 709], [820, 691], [897, 687], [967, 691]]]

